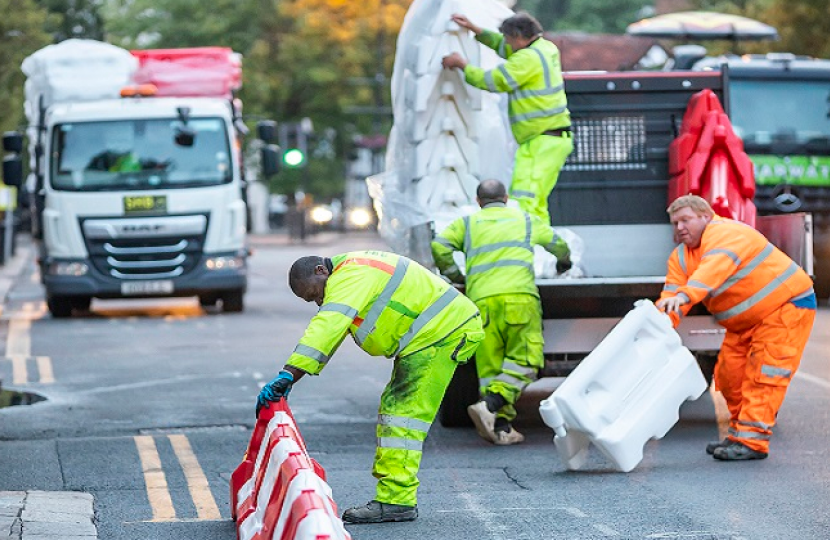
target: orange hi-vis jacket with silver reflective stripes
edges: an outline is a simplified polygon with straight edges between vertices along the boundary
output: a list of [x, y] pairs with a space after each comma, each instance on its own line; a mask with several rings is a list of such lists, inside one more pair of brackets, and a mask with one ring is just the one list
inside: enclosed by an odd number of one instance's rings
[[[703, 305], [724, 328], [751, 328], [787, 302], [813, 292], [813, 281], [792, 259], [744, 223], [715, 216], [700, 246], [681, 244], [668, 261], [661, 298], [683, 295], [686, 315]], [[680, 318], [672, 313], [677, 326]]]

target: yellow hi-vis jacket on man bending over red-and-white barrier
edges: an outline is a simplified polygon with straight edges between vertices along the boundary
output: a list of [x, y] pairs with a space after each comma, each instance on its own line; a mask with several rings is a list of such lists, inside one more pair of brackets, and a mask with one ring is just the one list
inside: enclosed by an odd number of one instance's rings
[[331, 258], [323, 305], [286, 364], [317, 375], [346, 334], [372, 356], [407, 356], [433, 345], [478, 308], [420, 264], [383, 251]]

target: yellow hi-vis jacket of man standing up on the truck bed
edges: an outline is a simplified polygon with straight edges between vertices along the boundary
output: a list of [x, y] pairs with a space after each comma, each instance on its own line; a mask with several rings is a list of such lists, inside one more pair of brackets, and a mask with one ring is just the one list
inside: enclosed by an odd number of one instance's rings
[[489, 92], [506, 92], [510, 128], [516, 142], [549, 129], [570, 127], [571, 113], [565, 97], [559, 49], [538, 38], [528, 47], [513, 51], [504, 36], [485, 30], [476, 39], [507, 62], [490, 70], [467, 64], [464, 80]]

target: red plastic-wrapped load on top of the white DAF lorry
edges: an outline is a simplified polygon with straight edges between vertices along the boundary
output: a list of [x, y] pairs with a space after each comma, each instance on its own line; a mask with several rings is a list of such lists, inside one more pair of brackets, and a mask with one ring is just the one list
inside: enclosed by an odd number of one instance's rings
[[228, 97], [242, 86], [242, 57], [228, 47], [130, 51], [138, 58], [137, 84], [158, 96]]

